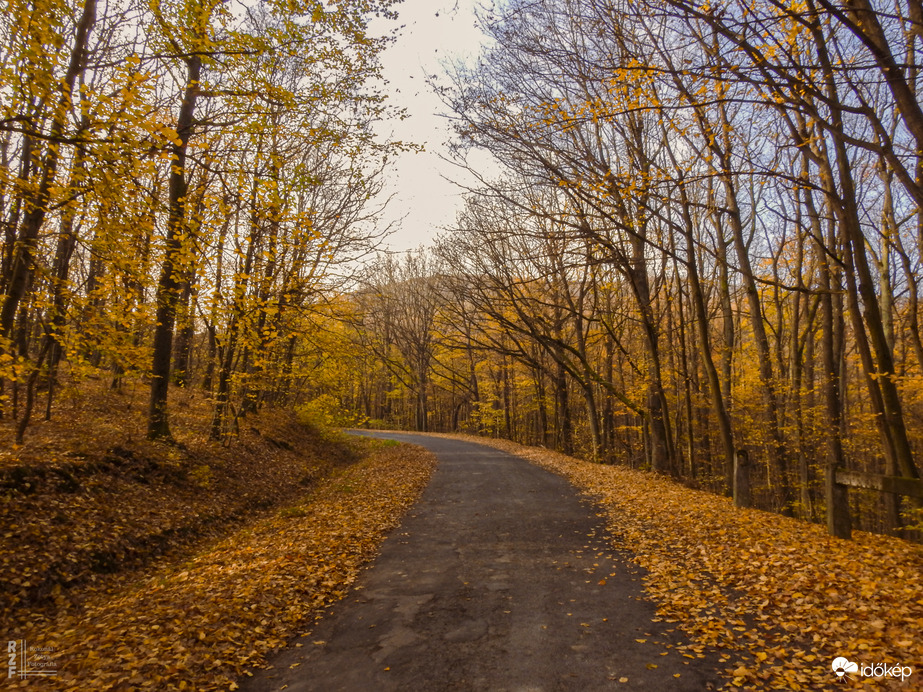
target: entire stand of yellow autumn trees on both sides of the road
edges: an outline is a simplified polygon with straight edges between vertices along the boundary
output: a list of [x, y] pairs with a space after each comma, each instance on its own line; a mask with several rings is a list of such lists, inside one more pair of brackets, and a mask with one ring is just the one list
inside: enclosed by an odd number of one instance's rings
[[[505, 0], [433, 78], [469, 185], [377, 251], [392, 0], [13, 0], [0, 407], [178, 393], [471, 432], [919, 535], [923, 14], [896, 0]], [[393, 25], [390, 22], [389, 25]], [[375, 24], [374, 26], [378, 26]], [[472, 154], [478, 156], [472, 156]], [[468, 161], [490, 156], [479, 170]]]

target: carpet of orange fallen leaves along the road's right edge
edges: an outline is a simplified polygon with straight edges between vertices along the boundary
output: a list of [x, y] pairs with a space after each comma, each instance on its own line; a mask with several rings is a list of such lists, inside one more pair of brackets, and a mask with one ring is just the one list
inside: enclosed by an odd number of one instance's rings
[[[619, 548], [645, 568], [660, 618], [717, 651], [730, 688], [923, 689], [923, 549], [751, 509], [654, 474], [464, 436], [568, 478], [606, 512]], [[900, 679], [837, 680], [831, 663], [901, 664]]]

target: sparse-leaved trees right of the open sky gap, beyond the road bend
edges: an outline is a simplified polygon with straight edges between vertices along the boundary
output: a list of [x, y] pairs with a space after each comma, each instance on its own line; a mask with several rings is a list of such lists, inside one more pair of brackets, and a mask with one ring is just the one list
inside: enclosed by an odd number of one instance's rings
[[[920, 22], [859, 0], [485, 12], [487, 48], [439, 82], [478, 184], [353, 296], [344, 407], [718, 493], [749, 462], [758, 507], [918, 536]], [[847, 498], [845, 472], [916, 490]]]

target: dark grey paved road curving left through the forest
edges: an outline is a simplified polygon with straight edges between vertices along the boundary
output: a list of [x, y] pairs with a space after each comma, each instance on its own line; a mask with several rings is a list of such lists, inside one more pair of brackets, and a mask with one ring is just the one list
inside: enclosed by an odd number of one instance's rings
[[567, 481], [470, 442], [375, 434], [433, 451], [432, 481], [359, 590], [242, 689], [712, 688]]

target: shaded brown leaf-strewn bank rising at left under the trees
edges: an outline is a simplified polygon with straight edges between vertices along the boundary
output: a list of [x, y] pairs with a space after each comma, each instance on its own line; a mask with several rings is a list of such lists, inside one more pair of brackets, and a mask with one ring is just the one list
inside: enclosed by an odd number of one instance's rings
[[187, 399], [166, 444], [118, 428], [134, 423], [121, 397], [86, 403], [0, 453], [3, 631], [224, 536], [360, 456], [278, 411], [219, 443], [195, 425], [205, 402]]

